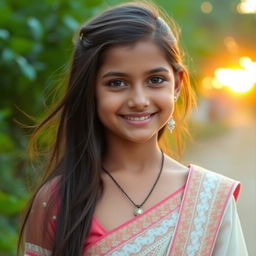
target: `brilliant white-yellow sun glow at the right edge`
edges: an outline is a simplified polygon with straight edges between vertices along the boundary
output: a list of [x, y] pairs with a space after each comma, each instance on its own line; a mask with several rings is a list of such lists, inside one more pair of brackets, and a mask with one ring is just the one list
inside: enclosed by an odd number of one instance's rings
[[205, 89], [222, 89], [228, 87], [236, 93], [245, 93], [256, 84], [256, 62], [249, 57], [239, 59], [241, 68], [218, 68], [214, 77], [203, 80]]

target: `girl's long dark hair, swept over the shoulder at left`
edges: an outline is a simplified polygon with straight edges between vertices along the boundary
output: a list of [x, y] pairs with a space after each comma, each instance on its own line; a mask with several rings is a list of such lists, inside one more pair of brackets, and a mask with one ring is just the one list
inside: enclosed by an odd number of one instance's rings
[[[48, 160], [46, 178], [40, 186], [42, 188], [58, 177], [54, 200], [55, 203], [58, 200], [59, 207], [52, 256], [82, 255], [96, 202], [103, 190], [100, 174], [106, 145], [97, 116], [95, 80], [104, 53], [111, 47], [142, 39], [153, 40], [163, 50], [174, 71], [183, 72], [179, 104], [174, 113], [178, 144], [178, 138], [185, 130], [185, 118], [194, 98], [187, 69], [182, 64], [174, 23], [152, 4], [126, 3], [104, 11], [82, 26], [75, 40], [65, 95], [37, 126], [31, 139], [33, 148], [42, 130], [57, 120], [56, 140]], [[162, 134], [163, 129], [159, 138]], [[35, 196], [28, 206], [19, 243], [34, 199]]]

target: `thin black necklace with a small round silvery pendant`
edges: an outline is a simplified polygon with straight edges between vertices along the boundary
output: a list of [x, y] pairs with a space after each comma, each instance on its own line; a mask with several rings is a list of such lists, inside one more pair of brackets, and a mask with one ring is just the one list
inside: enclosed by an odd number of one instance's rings
[[134, 209], [134, 216], [138, 216], [138, 215], [141, 215], [143, 213], [143, 209], [142, 209], [142, 206], [146, 203], [146, 201], [148, 200], [149, 196], [152, 194], [160, 176], [161, 176], [161, 173], [162, 173], [162, 170], [163, 170], [163, 165], [164, 165], [164, 153], [163, 151], [161, 150], [161, 153], [162, 153], [162, 160], [161, 160], [161, 166], [160, 166], [160, 171], [157, 175], [157, 178], [156, 178], [156, 181], [154, 182], [151, 190], [149, 191], [148, 195], [146, 196], [146, 198], [144, 199], [144, 201], [141, 203], [141, 204], [136, 204], [132, 199], [131, 197], [124, 191], [124, 189], [118, 184], [118, 182], [114, 179], [114, 177], [104, 168], [102, 167], [102, 170], [112, 179], [112, 181], [117, 185], [117, 187], [123, 192], [123, 194], [128, 198], [128, 200], [134, 205], [135, 209]]

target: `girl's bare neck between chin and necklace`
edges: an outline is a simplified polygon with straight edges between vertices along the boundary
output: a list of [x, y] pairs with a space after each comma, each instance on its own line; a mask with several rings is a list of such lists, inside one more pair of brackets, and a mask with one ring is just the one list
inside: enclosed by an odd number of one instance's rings
[[108, 141], [103, 166], [109, 172], [142, 173], [159, 166], [161, 150], [157, 137], [145, 143]]

